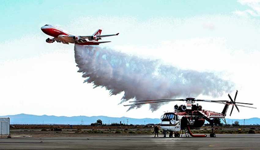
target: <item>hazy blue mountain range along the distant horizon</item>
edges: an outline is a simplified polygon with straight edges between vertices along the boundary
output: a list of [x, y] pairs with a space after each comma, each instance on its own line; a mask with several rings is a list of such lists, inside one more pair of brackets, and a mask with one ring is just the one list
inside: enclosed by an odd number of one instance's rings
[[[106, 116], [73, 116], [73, 117], [66, 117], [66, 116], [47, 116], [47, 115], [32, 115], [32, 114], [16, 114], [16, 115], [6, 115], [0, 116], [0, 118], [10, 118], [10, 124], [69, 124], [69, 125], [90, 125], [91, 123], [96, 122], [98, 119], [101, 119], [103, 123], [122, 123], [127, 124], [134, 124], [134, 125], [143, 125], [143, 124], [158, 124], [161, 122], [159, 118], [143, 118], [143, 119], [136, 119], [136, 118], [127, 118], [127, 117], [106, 117]], [[226, 119], [226, 122], [229, 124], [238, 121], [240, 125], [244, 124], [244, 119]], [[223, 122], [223, 121], [222, 121]], [[223, 122], [224, 123], [224, 122]], [[245, 125], [253, 125], [253, 124], [260, 124], [260, 118], [250, 118], [245, 119]]]

